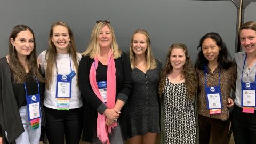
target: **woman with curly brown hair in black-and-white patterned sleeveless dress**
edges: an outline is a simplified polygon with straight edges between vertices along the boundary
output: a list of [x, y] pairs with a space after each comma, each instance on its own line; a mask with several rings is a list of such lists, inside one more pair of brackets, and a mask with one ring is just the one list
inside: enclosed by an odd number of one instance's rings
[[161, 75], [161, 143], [198, 143], [196, 127], [197, 75], [185, 44], [168, 49]]

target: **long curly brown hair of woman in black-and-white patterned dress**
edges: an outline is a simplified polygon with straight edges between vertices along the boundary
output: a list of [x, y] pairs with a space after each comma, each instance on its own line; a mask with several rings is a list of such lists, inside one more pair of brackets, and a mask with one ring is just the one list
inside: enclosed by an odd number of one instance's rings
[[198, 78], [197, 78], [196, 71], [193, 68], [192, 62], [190, 61], [190, 57], [188, 55], [188, 48], [185, 44], [182, 44], [182, 43], [174, 43], [168, 49], [168, 54], [167, 54], [164, 70], [161, 73], [161, 79], [159, 82], [158, 93], [161, 97], [163, 94], [163, 91], [164, 91], [166, 77], [167, 77], [167, 75], [172, 73], [173, 67], [170, 62], [170, 56], [171, 56], [171, 52], [174, 48], [182, 49], [185, 53], [186, 62], [183, 66], [183, 75], [185, 78], [185, 85], [187, 88], [188, 99], [193, 99], [195, 92], [197, 91], [197, 87], [198, 87]]

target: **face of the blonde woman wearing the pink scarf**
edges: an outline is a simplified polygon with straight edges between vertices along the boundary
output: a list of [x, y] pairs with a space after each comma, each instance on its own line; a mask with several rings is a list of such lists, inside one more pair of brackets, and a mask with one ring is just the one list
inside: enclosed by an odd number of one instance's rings
[[100, 30], [99, 36], [99, 45], [100, 49], [110, 49], [111, 44], [112, 44], [112, 34], [107, 25], [103, 26], [102, 29]]

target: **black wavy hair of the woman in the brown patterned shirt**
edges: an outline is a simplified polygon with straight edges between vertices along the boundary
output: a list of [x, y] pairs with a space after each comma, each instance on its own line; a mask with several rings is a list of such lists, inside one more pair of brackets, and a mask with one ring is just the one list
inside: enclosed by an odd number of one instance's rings
[[216, 41], [216, 44], [220, 47], [220, 52], [219, 52], [218, 59], [217, 59], [217, 62], [219, 63], [219, 67], [223, 68], [225, 70], [229, 69], [231, 67], [231, 65], [233, 64], [233, 62], [231, 61], [231, 55], [228, 52], [225, 42], [222, 40], [220, 35], [215, 32], [207, 33], [200, 39], [199, 45], [197, 46], [197, 50], [199, 50], [199, 48], [201, 48], [201, 49], [197, 56], [195, 68], [197, 68], [199, 70], [203, 70], [204, 65], [207, 65], [209, 62], [204, 57], [204, 54], [202, 51], [202, 44], [203, 44], [204, 40], [207, 38], [211, 38], [214, 41]]

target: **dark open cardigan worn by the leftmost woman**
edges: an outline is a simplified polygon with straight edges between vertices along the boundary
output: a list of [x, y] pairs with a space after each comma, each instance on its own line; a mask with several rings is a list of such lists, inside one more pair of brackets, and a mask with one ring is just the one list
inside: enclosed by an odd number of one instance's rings
[[[15, 139], [24, 132], [19, 108], [13, 92], [11, 70], [6, 57], [0, 59], [0, 137], [4, 143], [15, 143]], [[44, 84], [40, 83], [42, 126], [45, 126], [43, 100]], [[6, 141], [4, 131], [7, 132]]]

